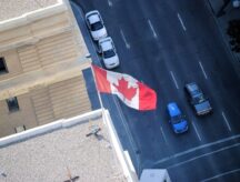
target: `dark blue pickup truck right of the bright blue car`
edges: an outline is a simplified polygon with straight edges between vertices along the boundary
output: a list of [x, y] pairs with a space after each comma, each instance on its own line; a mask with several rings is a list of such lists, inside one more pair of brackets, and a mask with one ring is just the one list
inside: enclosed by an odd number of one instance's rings
[[209, 100], [204, 97], [197, 83], [192, 82], [186, 84], [184, 90], [197, 115], [203, 115], [212, 112], [212, 107]]

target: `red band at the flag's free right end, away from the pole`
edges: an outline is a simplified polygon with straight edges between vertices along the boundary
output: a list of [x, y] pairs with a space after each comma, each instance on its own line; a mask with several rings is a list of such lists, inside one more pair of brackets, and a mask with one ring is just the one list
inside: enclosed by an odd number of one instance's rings
[[157, 107], [157, 93], [141, 82], [139, 84], [139, 110], [154, 110]]

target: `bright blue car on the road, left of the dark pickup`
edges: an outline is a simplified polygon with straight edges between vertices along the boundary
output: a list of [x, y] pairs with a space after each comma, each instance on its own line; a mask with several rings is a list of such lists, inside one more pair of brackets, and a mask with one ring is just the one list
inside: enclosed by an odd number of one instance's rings
[[176, 102], [171, 102], [167, 107], [171, 124], [174, 133], [183, 133], [188, 131], [188, 122], [186, 117], [181, 113]]

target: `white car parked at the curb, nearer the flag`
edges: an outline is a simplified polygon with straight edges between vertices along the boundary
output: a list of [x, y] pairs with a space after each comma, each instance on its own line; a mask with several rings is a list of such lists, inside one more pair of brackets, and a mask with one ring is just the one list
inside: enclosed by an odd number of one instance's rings
[[99, 52], [107, 69], [113, 69], [119, 65], [119, 57], [110, 37], [99, 40]]

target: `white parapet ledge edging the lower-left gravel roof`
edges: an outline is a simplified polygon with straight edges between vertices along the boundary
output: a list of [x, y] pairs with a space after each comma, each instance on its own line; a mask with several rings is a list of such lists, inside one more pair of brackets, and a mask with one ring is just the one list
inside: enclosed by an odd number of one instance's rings
[[[17, 134], [12, 134], [12, 135], [9, 135], [6, 138], [1, 138], [0, 139], [0, 148], [3, 148], [6, 145], [10, 145], [12, 143], [26, 141], [28, 139], [31, 139], [31, 138], [34, 138], [37, 135], [41, 135], [41, 134], [44, 134], [48, 132], [52, 132], [54, 130], [70, 128], [70, 127], [73, 127], [76, 124], [89, 122], [89, 120], [98, 119], [100, 117], [103, 119], [103, 122], [108, 128], [108, 131], [109, 131], [108, 133], [109, 133], [110, 139], [111, 139], [111, 144], [113, 145], [113, 149], [114, 149], [116, 154], [119, 159], [119, 162], [121, 163], [124, 176], [127, 178], [128, 182], [137, 182], [138, 176], [137, 176], [136, 171], [133, 169], [131, 159], [128, 155], [128, 152], [123, 152], [122, 145], [120, 143], [120, 140], [118, 138], [116, 129], [112, 124], [111, 117], [110, 117], [108, 110], [104, 110], [104, 109], [91, 111], [91, 112], [84, 113], [82, 115], [73, 117], [71, 119], [58, 120], [58, 121], [49, 123], [49, 124], [44, 124], [44, 125], [34, 128], [34, 129], [23, 131], [21, 133], [17, 133]], [[127, 155], [124, 153], [127, 153]]]

